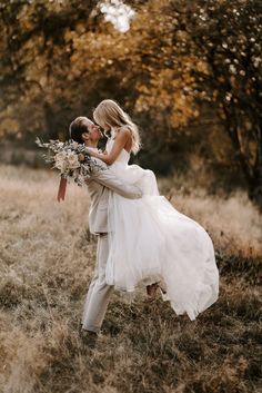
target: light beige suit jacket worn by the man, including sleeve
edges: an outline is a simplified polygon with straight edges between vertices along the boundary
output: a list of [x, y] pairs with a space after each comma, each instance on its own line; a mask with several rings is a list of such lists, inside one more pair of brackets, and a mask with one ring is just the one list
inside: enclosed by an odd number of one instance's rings
[[137, 186], [124, 184], [110, 169], [94, 169], [85, 183], [91, 199], [89, 229], [92, 234], [108, 232], [108, 199], [110, 190], [129, 199], [142, 197], [142, 191]]

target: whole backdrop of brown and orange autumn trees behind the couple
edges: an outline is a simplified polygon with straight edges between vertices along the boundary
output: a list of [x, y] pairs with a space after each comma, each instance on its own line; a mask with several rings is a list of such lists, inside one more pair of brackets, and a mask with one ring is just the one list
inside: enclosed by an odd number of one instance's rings
[[[32, 149], [36, 135], [67, 138], [74, 117], [113, 98], [141, 129], [142, 166], [198, 176], [211, 191], [241, 186], [261, 202], [260, 1], [0, 8], [2, 160], [39, 165], [21, 146]], [[129, 29], [108, 20], [115, 10], [130, 16]]]

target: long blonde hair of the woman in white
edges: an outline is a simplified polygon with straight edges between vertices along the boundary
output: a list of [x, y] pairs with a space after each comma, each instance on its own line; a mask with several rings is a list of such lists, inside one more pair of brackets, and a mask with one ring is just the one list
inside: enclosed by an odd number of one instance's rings
[[141, 141], [138, 127], [115, 101], [111, 99], [101, 101], [93, 111], [93, 118], [102, 128], [107, 128], [107, 125], [115, 128], [128, 128], [132, 135], [131, 151], [133, 154], [139, 151]]

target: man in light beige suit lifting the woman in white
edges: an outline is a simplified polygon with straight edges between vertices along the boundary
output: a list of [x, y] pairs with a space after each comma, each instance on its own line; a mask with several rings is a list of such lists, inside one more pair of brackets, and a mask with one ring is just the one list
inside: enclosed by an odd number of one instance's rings
[[[78, 117], [69, 127], [70, 138], [92, 149], [98, 149], [102, 138], [100, 127], [87, 117]], [[98, 235], [97, 264], [89, 286], [83, 315], [82, 328], [98, 333], [102, 325], [113, 286], [105, 283], [105, 264], [109, 253], [108, 243], [108, 198], [112, 190], [125, 198], [135, 199], [142, 196], [141, 190], [122, 183], [102, 161], [104, 170], [94, 169], [87, 179], [91, 206], [89, 212], [89, 229]], [[91, 333], [92, 334], [92, 333]]]

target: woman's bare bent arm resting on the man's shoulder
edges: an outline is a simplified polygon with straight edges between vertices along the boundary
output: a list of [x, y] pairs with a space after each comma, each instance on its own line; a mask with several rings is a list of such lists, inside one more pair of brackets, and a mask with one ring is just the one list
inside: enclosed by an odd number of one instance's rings
[[124, 149], [124, 146], [127, 145], [130, 137], [131, 137], [130, 131], [128, 129], [121, 129], [118, 131], [115, 136], [114, 144], [110, 153], [101, 154], [101, 153], [93, 151], [92, 149], [89, 149], [89, 148], [87, 148], [87, 150], [90, 154], [90, 156], [101, 159], [107, 165], [112, 165], [118, 158], [118, 156], [120, 155], [121, 150]]

